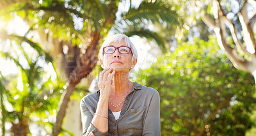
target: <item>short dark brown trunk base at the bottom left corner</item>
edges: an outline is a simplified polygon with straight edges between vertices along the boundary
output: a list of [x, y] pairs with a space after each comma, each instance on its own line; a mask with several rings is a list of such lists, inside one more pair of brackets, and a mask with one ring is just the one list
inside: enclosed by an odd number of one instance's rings
[[26, 136], [29, 133], [29, 126], [27, 119], [22, 119], [18, 124], [12, 123], [12, 136]]

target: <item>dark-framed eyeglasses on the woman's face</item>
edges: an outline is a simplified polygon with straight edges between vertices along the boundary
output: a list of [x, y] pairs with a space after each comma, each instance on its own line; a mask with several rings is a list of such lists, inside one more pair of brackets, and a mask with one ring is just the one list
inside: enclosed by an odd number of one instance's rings
[[113, 54], [116, 51], [116, 49], [120, 54], [129, 54], [129, 52], [132, 53], [131, 47], [127, 47], [127, 46], [114, 47], [113, 45], [104, 47], [103, 52], [105, 54]]

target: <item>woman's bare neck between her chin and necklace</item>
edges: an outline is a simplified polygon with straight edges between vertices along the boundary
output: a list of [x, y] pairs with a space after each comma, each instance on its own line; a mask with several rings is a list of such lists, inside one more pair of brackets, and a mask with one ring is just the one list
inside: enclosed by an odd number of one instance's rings
[[113, 91], [111, 95], [124, 95], [129, 89], [129, 73], [116, 72], [113, 77], [113, 84], [111, 85]]

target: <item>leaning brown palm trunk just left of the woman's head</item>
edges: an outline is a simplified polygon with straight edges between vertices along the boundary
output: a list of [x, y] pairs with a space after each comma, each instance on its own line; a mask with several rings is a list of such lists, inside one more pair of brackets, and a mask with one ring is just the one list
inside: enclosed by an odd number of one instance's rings
[[89, 73], [92, 72], [98, 61], [97, 54], [99, 50], [97, 49], [97, 45], [99, 44], [99, 40], [100, 34], [92, 33], [92, 42], [86, 48], [85, 54], [79, 55], [79, 62], [77, 62], [77, 66], [69, 75], [69, 85], [64, 93], [61, 95], [56, 123], [52, 128], [53, 136], [56, 136], [61, 132], [61, 125], [63, 123], [63, 118], [66, 114], [67, 105], [70, 101], [70, 96], [72, 95], [76, 85], [79, 84], [81, 79], [87, 77]]

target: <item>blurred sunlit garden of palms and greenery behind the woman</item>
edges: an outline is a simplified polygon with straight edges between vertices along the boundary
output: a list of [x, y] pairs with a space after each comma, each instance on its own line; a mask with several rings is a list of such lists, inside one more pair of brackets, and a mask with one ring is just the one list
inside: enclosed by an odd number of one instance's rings
[[161, 135], [256, 135], [255, 0], [0, 0], [0, 135], [82, 135], [104, 38], [138, 50]]

